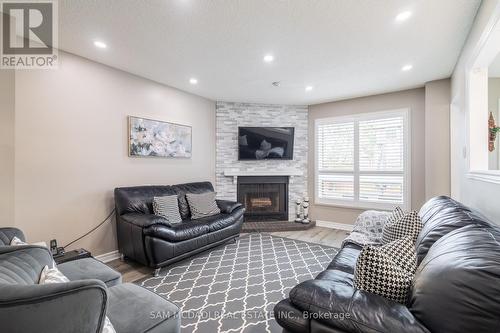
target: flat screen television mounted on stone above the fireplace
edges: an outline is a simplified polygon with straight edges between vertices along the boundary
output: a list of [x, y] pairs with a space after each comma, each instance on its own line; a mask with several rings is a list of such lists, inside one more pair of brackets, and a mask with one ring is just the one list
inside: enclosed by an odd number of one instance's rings
[[239, 160], [292, 160], [293, 127], [239, 127]]

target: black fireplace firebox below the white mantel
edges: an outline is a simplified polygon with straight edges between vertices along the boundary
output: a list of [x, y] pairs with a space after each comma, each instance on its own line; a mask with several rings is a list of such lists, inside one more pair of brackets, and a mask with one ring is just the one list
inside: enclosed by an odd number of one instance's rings
[[245, 221], [288, 221], [288, 177], [238, 177], [238, 201]]

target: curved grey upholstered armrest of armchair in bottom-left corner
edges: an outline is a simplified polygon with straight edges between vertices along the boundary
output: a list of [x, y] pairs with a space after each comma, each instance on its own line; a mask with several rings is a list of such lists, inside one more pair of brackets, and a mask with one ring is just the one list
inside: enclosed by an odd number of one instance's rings
[[103, 282], [1, 284], [2, 332], [101, 332], [107, 295]]

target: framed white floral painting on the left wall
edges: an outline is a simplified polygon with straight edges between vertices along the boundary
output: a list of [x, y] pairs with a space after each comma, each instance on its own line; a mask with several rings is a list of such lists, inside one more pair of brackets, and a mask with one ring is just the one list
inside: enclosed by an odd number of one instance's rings
[[191, 158], [191, 126], [129, 116], [129, 156]]

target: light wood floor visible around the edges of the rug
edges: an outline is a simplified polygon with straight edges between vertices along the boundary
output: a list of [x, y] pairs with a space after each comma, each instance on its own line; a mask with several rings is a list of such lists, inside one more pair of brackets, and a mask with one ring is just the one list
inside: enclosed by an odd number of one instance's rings
[[[284, 231], [271, 232], [271, 235], [278, 237], [291, 238], [309, 243], [317, 243], [327, 246], [340, 247], [340, 244], [349, 234], [345, 230], [337, 230], [331, 228], [314, 227], [306, 231]], [[245, 234], [241, 234], [242, 236]], [[144, 267], [130, 260], [121, 261], [116, 259], [110, 261], [108, 266], [117, 270], [122, 274], [123, 282], [134, 282], [142, 278], [151, 276], [153, 269]]]

